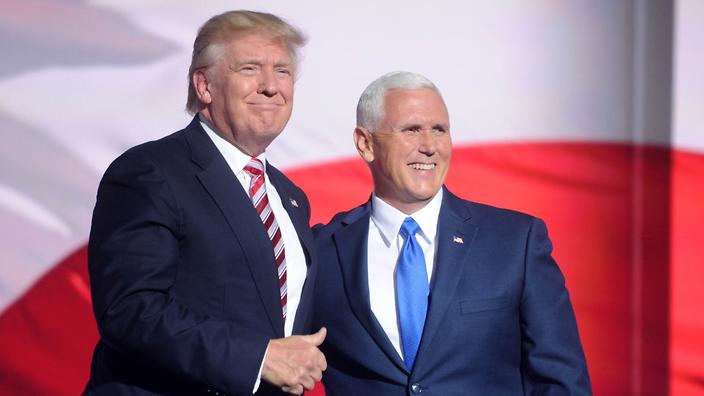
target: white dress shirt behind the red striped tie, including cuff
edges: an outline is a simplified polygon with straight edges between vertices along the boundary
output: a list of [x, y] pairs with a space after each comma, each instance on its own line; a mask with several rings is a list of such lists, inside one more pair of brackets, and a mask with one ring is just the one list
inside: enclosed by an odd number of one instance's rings
[[[225, 161], [227, 161], [230, 169], [232, 169], [232, 173], [235, 174], [245, 193], [249, 196], [249, 185], [252, 178], [249, 176], [249, 173], [244, 170], [244, 167], [247, 165], [251, 157], [241, 152], [237, 147], [225, 140], [222, 136], [218, 135], [210, 127], [210, 125], [203, 122], [202, 119], [200, 121], [200, 125], [203, 129], [205, 129], [205, 132], [208, 134], [213, 143], [215, 143], [215, 146], [218, 148], [218, 151], [220, 151], [220, 154], [225, 157]], [[257, 158], [262, 161], [262, 164], [264, 164], [264, 169], [266, 170], [265, 153], [258, 155]], [[266, 194], [269, 198], [269, 205], [271, 205], [271, 210], [274, 212], [276, 222], [279, 224], [281, 237], [284, 239], [284, 249], [286, 251], [287, 312], [286, 321], [284, 322], [284, 335], [288, 337], [293, 332], [293, 322], [296, 318], [298, 303], [301, 300], [301, 292], [303, 290], [303, 283], [306, 280], [308, 266], [306, 265], [306, 256], [303, 253], [301, 241], [298, 239], [298, 233], [291, 222], [291, 218], [288, 216], [288, 212], [286, 212], [286, 209], [284, 209], [284, 206], [281, 203], [281, 197], [279, 197], [276, 187], [271, 184], [269, 175], [267, 175], [266, 172], [264, 172], [264, 184], [266, 186]], [[266, 353], [264, 354], [264, 357], [266, 357]], [[261, 369], [263, 365], [264, 361], [262, 360], [262, 365], [259, 369], [259, 377], [254, 386], [254, 392], [256, 392], [259, 388]]]

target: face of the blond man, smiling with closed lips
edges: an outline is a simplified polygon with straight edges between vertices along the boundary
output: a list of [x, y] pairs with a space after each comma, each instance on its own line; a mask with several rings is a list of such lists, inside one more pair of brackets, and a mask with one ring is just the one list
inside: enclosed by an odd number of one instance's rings
[[281, 133], [293, 107], [293, 61], [278, 39], [248, 34], [222, 46], [193, 82], [201, 115], [230, 143], [255, 156]]

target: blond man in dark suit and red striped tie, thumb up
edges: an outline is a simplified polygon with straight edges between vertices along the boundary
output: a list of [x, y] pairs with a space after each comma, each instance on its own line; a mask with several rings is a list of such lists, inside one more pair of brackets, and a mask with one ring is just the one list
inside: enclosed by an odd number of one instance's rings
[[266, 159], [304, 43], [271, 14], [211, 18], [193, 45], [193, 121], [105, 172], [88, 245], [100, 340], [85, 394], [302, 394], [320, 380], [310, 207]]

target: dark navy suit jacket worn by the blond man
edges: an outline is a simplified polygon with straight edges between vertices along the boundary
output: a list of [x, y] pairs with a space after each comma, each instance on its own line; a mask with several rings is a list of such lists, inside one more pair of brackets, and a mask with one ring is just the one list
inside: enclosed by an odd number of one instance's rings
[[[276, 168], [267, 175], [306, 254], [294, 333], [309, 333], [310, 207]], [[268, 341], [284, 337], [274, 253], [197, 117], [110, 165], [88, 254], [100, 341], [87, 394], [252, 393]], [[279, 394], [272, 388], [262, 382], [258, 394]]]

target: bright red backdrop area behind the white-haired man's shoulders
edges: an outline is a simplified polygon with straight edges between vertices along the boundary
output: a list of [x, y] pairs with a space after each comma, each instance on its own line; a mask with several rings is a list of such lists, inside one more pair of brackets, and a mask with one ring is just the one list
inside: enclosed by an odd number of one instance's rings
[[[704, 155], [618, 144], [486, 145], [456, 147], [450, 169], [456, 194], [546, 220], [595, 394], [663, 395], [668, 385], [673, 395], [704, 393], [696, 307], [704, 291], [695, 286], [704, 269], [694, 251], [704, 246]], [[313, 222], [371, 192], [361, 160], [287, 173], [311, 197]]]

